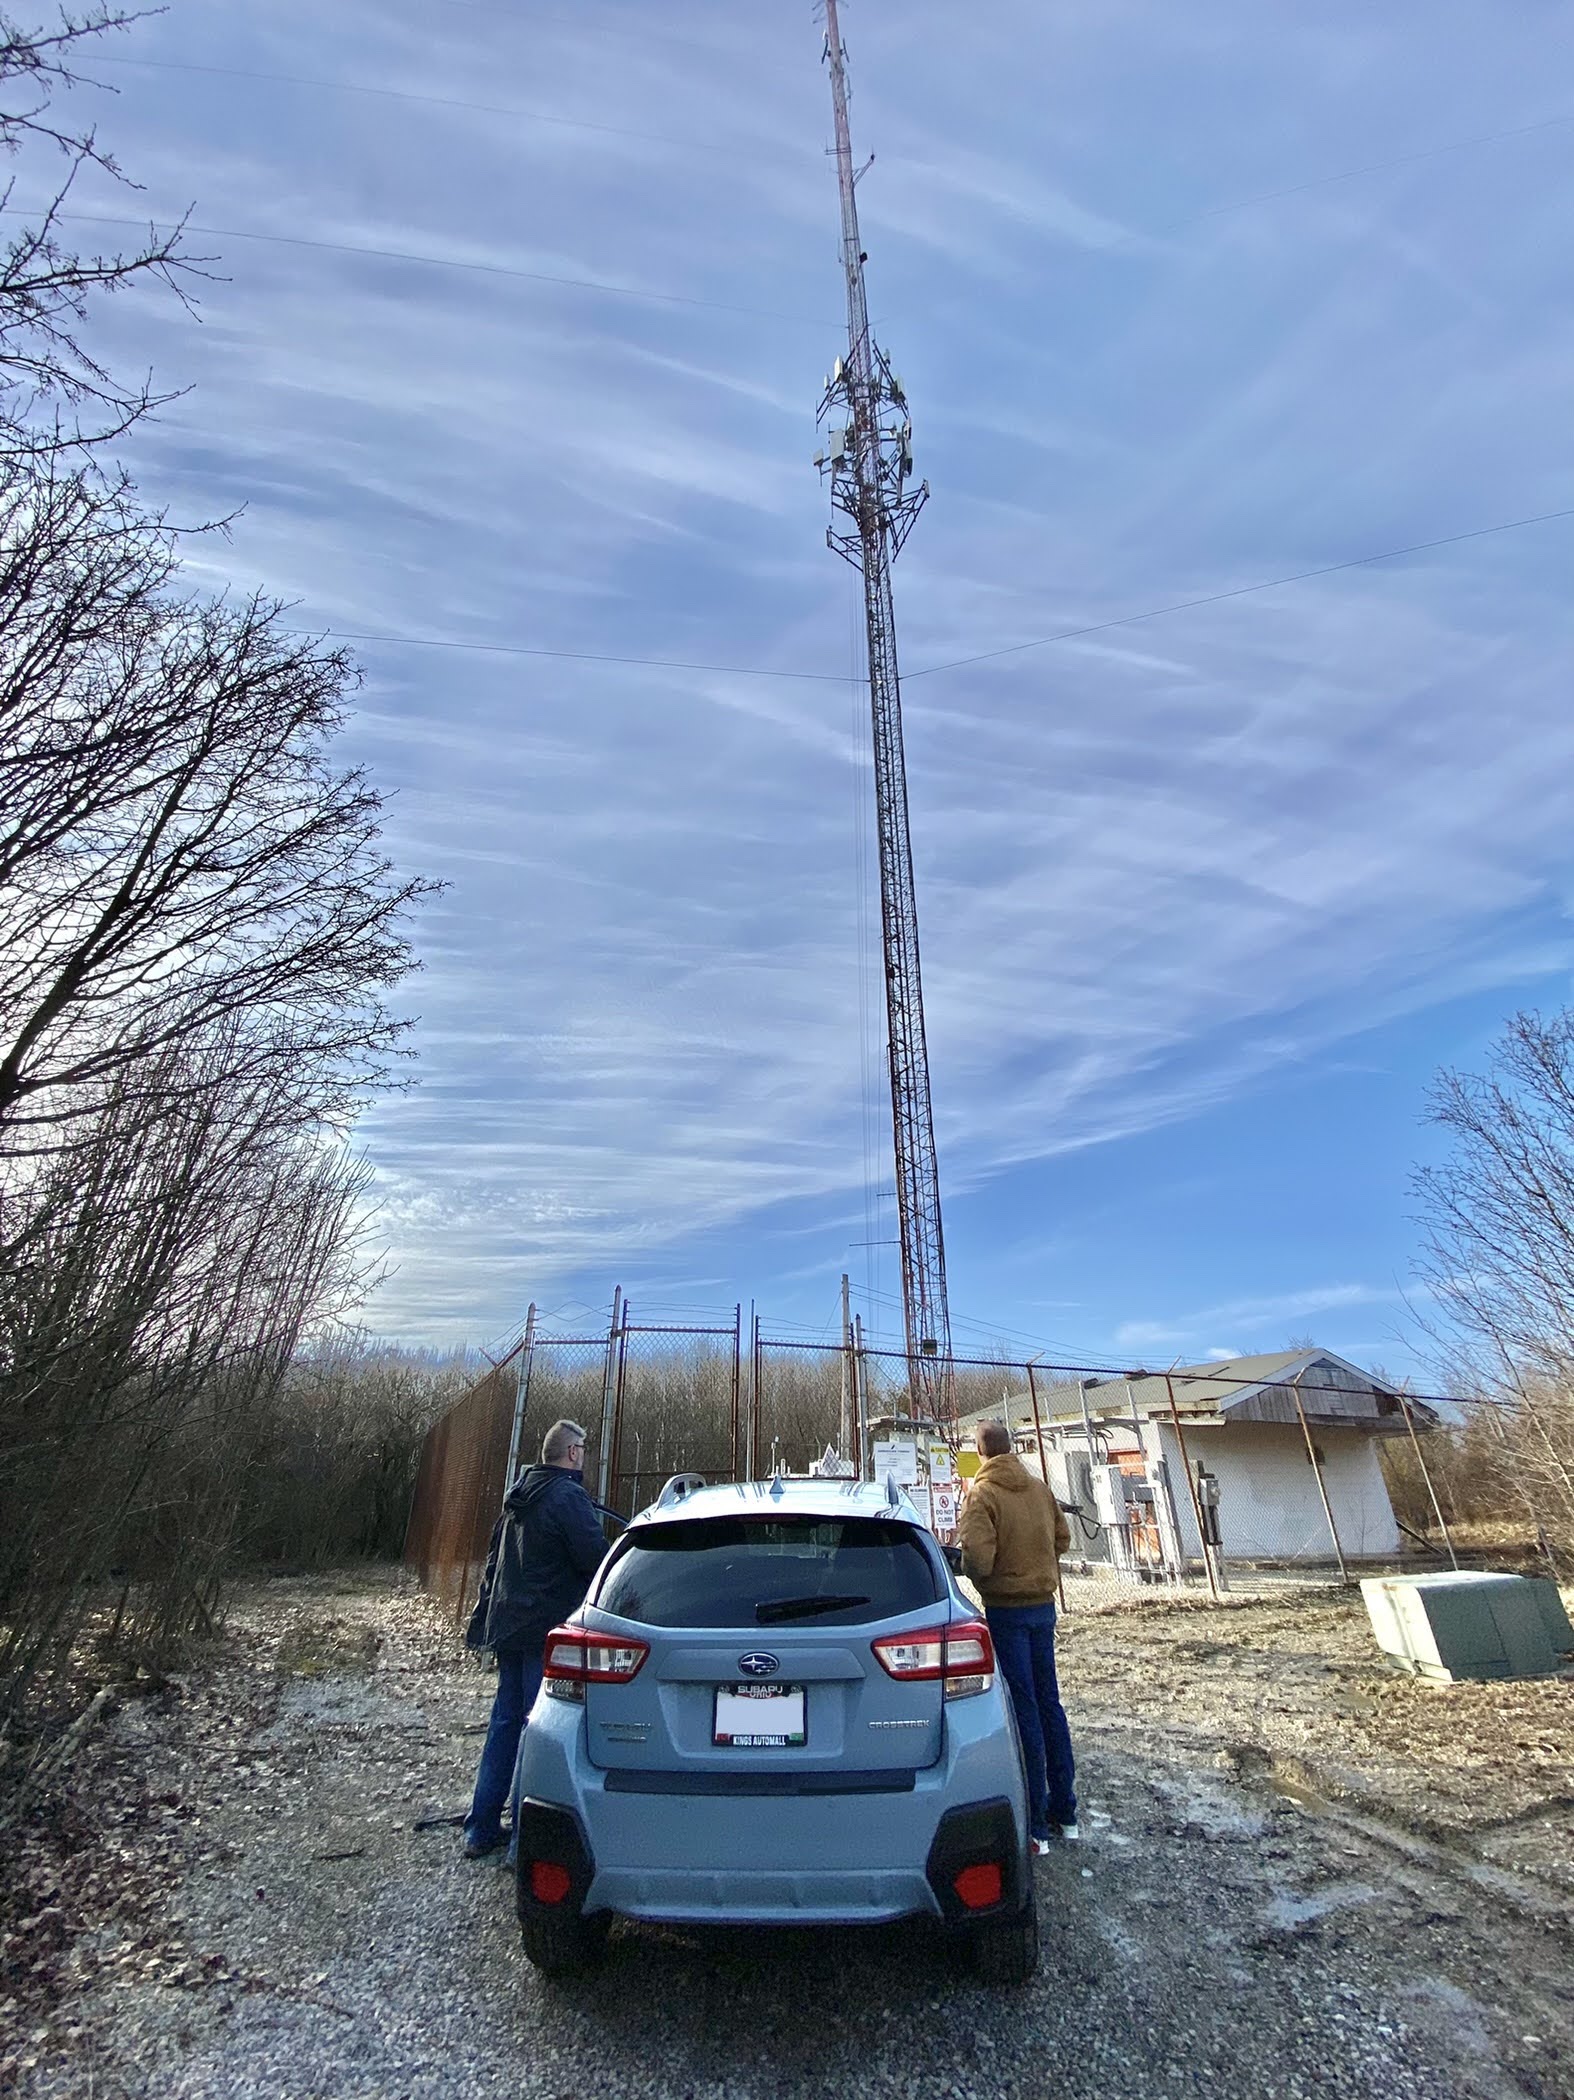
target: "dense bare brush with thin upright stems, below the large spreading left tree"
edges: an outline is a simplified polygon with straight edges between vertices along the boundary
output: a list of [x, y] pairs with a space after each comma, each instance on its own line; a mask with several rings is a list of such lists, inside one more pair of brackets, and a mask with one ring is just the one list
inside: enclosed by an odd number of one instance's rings
[[248, 1424], [306, 1323], [353, 1296], [363, 1170], [233, 1079], [233, 1027], [183, 1046], [162, 1094], [147, 1071], [107, 1086], [90, 1142], [8, 1193], [0, 1701], [69, 1642], [111, 1569], [143, 1583], [159, 1630], [201, 1615]]

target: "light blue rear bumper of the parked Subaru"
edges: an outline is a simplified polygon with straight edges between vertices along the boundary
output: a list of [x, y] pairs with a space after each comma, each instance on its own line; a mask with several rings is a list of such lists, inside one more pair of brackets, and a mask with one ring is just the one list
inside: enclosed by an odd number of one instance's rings
[[[980, 1699], [978, 1707], [988, 1701]], [[583, 1844], [581, 1907], [663, 1924], [982, 1922], [1028, 1894], [1016, 1739], [988, 1712], [949, 1716], [946, 1751], [898, 1791], [655, 1793], [592, 1766], [573, 1707], [541, 1699], [525, 1732], [523, 1821], [560, 1814]], [[963, 1911], [955, 1873], [1001, 1865], [1001, 1898]]]

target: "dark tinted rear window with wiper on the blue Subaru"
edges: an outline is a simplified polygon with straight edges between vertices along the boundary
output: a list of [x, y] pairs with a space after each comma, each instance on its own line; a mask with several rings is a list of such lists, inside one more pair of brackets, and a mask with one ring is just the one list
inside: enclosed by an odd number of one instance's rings
[[625, 1535], [596, 1604], [640, 1625], [867, 1625], [934, 1604], [913, 1525], [707, 1516]]

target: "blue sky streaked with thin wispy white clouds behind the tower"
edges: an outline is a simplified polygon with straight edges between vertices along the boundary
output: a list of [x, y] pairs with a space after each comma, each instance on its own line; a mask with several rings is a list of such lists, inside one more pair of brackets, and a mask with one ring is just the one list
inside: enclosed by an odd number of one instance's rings
[[[844, 36], [957, 1346], [1410, 1369], [1427, 1082], [1574, 964], [1570, 19]], [[806, 0], [172, 0], [84, 67], [143, 187], [78, 237], [214, 258], [94, 323], [187, 388], [126, 462], [355, 636], [344, 758], [447, 882], [361, 1126], [384, 1336], [613, 1283], [829, 1336], [842, 1270], [900, 1331], [818, 57]]]

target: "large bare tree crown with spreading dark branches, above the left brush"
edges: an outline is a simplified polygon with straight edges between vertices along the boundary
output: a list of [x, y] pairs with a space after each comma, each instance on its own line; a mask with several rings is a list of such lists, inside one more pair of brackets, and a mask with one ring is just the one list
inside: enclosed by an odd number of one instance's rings
[[[0, 462], [0, 1140], [63, 1142], [92, 1088], [216, 1021], [292, 1121], [344, 1117], [401, 1025], [430, 892], [327, 750], [355, 670], [279, 607], [172, 594], [124, 489]], [[153, 1067], [145, 1067], [153, 1069]], [[157, 1067], [159, 1073], [166, 1067]], [[159, 1079], [164, 1084], [164, 1079]]]

